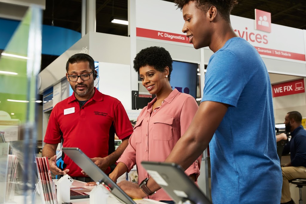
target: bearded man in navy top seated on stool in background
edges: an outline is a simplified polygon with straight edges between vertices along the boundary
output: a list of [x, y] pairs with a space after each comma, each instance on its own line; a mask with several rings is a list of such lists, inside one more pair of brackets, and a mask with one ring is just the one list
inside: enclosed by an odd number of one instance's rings
[[282, 167], [283, 186], [281, 203], [294, 203], [291, 199], [288, 180], [306, 179], [306, 130], [301, 125], [302, 115], [297, 111], [285, 116], [285, 130], [291, 132], [291, 139], [284, 147], [283, 154], [289, 154], [291, 162]]

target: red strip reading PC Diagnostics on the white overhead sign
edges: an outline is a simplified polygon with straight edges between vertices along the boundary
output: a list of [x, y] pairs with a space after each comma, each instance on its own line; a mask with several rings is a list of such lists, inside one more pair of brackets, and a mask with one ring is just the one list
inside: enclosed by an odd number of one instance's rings
[[189, 38], [185, 35], [176, 34], [176, 33], [169, 33], [163, 31], [155, 31], [150, 29], [144, 28], [136, 28], [136, 36], [144, 37], [144, 38], [153, 38], [159, 40], [169, 40], [179, 43], [189, 43]]

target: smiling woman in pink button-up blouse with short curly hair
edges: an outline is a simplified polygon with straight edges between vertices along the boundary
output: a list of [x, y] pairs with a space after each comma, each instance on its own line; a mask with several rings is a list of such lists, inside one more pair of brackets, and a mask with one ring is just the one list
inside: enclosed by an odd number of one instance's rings
[[[138, 184], [150, 177], [141, 166], [141, 161], [165, 161], [177, 140], [187, 130], [198, 105], [188, 94], [172, 90], [170, 76], [172, 58], [162, 47], [148, 47], [135, 57], [134, 69], [139, 73], [142, 85], [154, 98], [137, 118], [129, 145], [118, 160], [118, 165], [109, 175], [114, 181], [137, 165]], [[196, 182], [200, 174], [201, 158], [198, 158], [185, 173]], [[120, 183], [119, 183], [120, 185]], [[174, 203], [162, 189], [151, 195], [142, 187], [148, 198], [166, 203]]]

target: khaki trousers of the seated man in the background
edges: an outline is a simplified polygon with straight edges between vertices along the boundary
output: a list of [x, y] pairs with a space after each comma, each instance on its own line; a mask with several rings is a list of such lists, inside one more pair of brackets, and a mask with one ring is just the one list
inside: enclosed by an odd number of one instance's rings
[[289, 181], [292, 179], [306, 179], [306, 167], [304, 166], [288, 166], [282, 167], [283, 187], [282, 187], [282, 202], [289, 202], [291, 200]]

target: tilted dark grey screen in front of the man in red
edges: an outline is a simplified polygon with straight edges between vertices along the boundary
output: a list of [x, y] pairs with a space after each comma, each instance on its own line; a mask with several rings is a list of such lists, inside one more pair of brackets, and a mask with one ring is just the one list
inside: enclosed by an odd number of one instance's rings
[[81, 169], [83, 169], [88, 176], [94, 181], [99, 181], [104, 183], [110, 189], [111, 194], [113, 194], [120, 202], [126, 204], [136, 204], [122, 189], [111, 180], [90, 158], [84, 154], [77, 147], [63, 147], [63, 152], [72, 159]]

